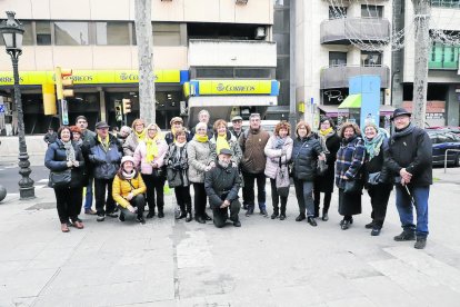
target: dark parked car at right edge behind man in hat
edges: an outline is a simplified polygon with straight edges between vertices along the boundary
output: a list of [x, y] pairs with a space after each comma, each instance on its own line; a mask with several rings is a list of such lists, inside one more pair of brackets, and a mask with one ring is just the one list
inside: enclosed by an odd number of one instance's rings
[[427, 129], [428, 135], [433, 143], [433, 166], [443, 166], [446, 150], [449, 150], [447, 162], [449, 166], [460, 166], [460, 135], [449, 130]]

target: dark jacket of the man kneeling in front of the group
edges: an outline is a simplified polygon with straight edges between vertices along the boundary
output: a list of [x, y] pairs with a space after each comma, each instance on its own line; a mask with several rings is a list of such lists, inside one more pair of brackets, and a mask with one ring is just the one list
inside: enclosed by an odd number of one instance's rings
[[223, 168], [216, 161], [216, 167], [204, 175], [204, 189], [211, 208], [219, 208], [226, 199], [230, 202], [238, 199], [240, 185], [238, 168]]

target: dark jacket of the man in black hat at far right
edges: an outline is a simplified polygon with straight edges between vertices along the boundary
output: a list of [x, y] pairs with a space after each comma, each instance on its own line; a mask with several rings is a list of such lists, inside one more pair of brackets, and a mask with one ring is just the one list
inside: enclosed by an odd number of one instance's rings
[[412, 186], [432, 185], [432, 150], [428, 133], [423, 129], [414, 127], [410, 133], [396, 133], [391, 137], [388, 166], [396, 177], [399, 177], [399, 171], [406, 168], [408, 172], [412, 174], [410, 180]]

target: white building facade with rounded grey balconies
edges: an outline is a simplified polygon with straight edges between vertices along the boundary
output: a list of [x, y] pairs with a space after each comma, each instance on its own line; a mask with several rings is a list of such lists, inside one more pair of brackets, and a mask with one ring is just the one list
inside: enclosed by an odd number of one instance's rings
[[296, 2], [297, 102], [304, 105], [304, 117], [314, 127], [320, 116], [350, 116], [338, 106], [349, 96], [349, 79], [361, 75], [380, 76], [381, 125], [389, 121], [392, 53], [384, 42], [391, 33], [392, 2]]

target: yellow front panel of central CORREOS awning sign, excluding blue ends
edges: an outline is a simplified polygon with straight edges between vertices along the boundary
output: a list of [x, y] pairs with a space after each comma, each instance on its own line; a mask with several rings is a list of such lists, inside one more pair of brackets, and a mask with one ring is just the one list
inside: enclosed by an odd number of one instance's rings
[[272, 80], [200, 80], [199, 95], [271, 93]]

